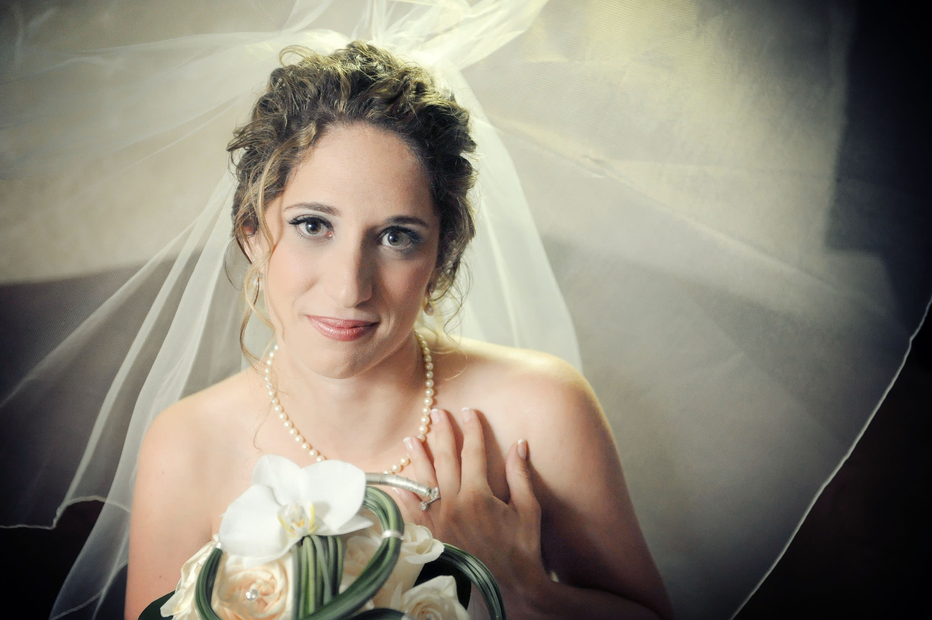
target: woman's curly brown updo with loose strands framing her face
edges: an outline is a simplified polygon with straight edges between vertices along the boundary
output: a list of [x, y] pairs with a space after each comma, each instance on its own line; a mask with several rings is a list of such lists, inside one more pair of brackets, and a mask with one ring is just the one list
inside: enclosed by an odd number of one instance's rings
[[[285, 64], [289, 55], [298, 60]], [[329, 55], [307, 47], [285, 47], [279, 61], [282, 66], [269, 76], [266, 92], [255, 102], [249, 120], [233, 132], [226, 146], [239, 181], [233, 197], [233, 236], [250, 260], [243, 278], [246, 310], [240, 346], [253, 360], [243, 342], [246, 324], [255, 313], [271, 327], [256, 309], [258, 276], [272, 251], [265, 209], [284, 191], [308, 149], [329, 129], [356, 123], [387, 129], [418, 157], [440, 216], [436, 284], [429, 290], [432, 303], [453, 290], [463, 251], [475, 234], [467, 197], [475, 181], [467, 157], [475, 150], [469, 113], [431, 74], [362, 41]], [[265, 237], [268, 250], [252, 260], [246, 248], [256, 233]]]

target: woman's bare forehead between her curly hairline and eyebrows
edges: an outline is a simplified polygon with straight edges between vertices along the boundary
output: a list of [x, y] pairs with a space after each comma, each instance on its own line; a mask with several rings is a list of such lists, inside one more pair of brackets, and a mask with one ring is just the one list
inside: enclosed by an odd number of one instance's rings
[[418, 157], [393, 132], [364, 124], [329, 129], [295, 170], [282, 198], [285, 206], [319, 202], [346, 217], [435, 217]]

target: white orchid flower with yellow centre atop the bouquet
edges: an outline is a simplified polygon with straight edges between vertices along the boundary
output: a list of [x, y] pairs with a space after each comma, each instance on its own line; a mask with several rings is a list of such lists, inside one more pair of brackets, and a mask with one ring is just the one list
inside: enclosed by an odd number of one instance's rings
[[253, 470], [253, 486], [226, 508], [220, 546], [247, 567], [279, 559], [301, 538], [336, 536], [372, 525], [359, 516], [365, 473], [342, 461], [301, 468], [267, 454]]

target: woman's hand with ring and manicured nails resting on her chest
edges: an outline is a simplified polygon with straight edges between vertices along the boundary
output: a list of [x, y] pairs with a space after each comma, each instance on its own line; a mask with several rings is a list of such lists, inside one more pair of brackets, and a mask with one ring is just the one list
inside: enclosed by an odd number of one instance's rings
[[414, 438], [404, 440], [418, 482], [439, 487], [440, 499], [421, 511], [420, 498], [394, 489], [399, 502], [418, 524], [450, 545], [472, 553], [485, 562], [499, 582], [510, 617], [522, 617], [541, 600], [541, 590], [553, 582], [541, 559], [541, 505], [531, 488], [528, 442], [514, 443], [505, 460], [510, 491], [506, 504], [488, 484], [486, 445], [479, 413], [463, 409], [459, 414], [463, 442], [457, 452], [453, 426], [447, 411], [433, 410], [428, 443], [433, 463], [424, 446]]

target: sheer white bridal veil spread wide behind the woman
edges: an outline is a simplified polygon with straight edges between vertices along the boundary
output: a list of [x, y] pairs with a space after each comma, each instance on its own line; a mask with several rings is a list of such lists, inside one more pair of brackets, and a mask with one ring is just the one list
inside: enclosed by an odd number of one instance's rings
[[[105, 501], [52, 617], [92, 616], [126, 564], [152, 419], [242, 367], [230, 130], [282, 47], [353, 38], [432, 67], [473, 115], [460, 330], [583, 370], [678, 617], [733, 615], [870, 421], [928, 303], [896, 276], [925, 259], [912, 232], [856, 209], [895, 190], [839, 172], [854, 24], [843, 2], [14, 7], [0, 281], [75, 282], [81, 303], [5, 385], [0, 525]], [[848, 217], [901, 251], [859, 247]]]

